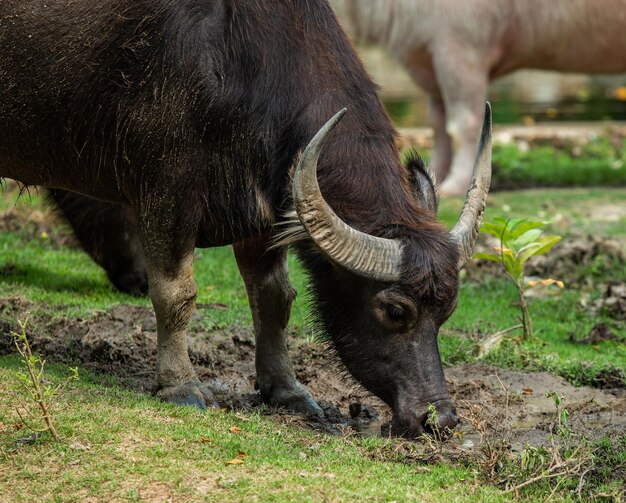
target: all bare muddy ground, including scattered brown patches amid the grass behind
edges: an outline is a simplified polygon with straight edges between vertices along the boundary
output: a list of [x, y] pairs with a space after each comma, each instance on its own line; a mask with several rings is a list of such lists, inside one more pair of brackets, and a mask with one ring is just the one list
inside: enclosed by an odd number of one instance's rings
[[[607, 213], [613, 218], [615, 208]], [[597, 208], [595, 210], [598, 211]], [[590, 215], [594, 221], [608, 218], [604, 213]], [[37, 238], [46, 233], [54, 246], [72, 246], [73, 237], [67, 228], [58, 226], [53, 212], [11, 208], [0, 218], [0, 231], [30, 233]], [[481, 236], [481, 244], [489, 243]], [[616, 323], [626, 320], [626, 285], [624, 283], [596, 283], [589, 270], [603, 273], [614, 267], [626, 267], [624, 241], [579, 236], [568, 238], [546, 257], [534, 262], [531, 274], [563, 279], [568, 287], [581, 292], [581, 304], [590, 316], [603, 310]], [[498, 264], [471, 262], [467, 276], [480, 281], [487, 275], [501, 274]], [[606, 274], [600, 275], [606, 278]], [[606, 280], [604, 280], [606, 281]], [[601, 298], [586, 301], [589, 290], [600, 289]], [[586, 297], [585, 297], [586, 296]], [[586, 304], [585, 304], [586, 303]], [[19, 298], [0, 298], [0, 353], [14, 351], [9, 333], [16, 326], [3, 324], [2, 319], [24, 319], [26, 313], [40, 310]], [[190, 353], [198, 375], [216, 393], [226, 407], [237, 410], [260, 406], [254, 391], [254, 338], [250, 327], [231, 327], [228, 331], [208, 333], [204, 327], [212, 311], [220, 306], [199, 305], [190, 326]], [[12, 321], [14, 322], [14, 321]], [[602, 324], [586, 335], [593, 343], [618, 337], [613, 327]], [[156, 364], [156, 320], [150, 309], [138, 306], [118, 306], [109, 312], [89, 319], [50, 321], [45, 316], [32, 316], [29, 336], [35, 351], [51, 361], [79, 363], [81, 367], [98, 373], [113, 374], [122, 383], [134, 389], [151, 392], [154, 386]], [[301, 339], [291, 340], [291, 356], [299, 379], [321, 401], [326, 417], [311, 422], [284, 411], [262, 409], [274, 414], [276, 420], [298, 423], [303, 427], [334, 434], [385, 434], [390, 418], [389, 409], [378, 399], [350, 381], [347, 372], [334, 358], [332, 351], [321, 344]], [[531, 373], [489, 367], [484, 364], [465, 364], [446, 369], [451, 394], [461, 417], [471, 411], [494, 434], [509, 442], [512, 449], [524, 444], [543, 444], [548, 441], [555, 420], [555, 406], [546, 392], [564, 396], [563, 407], [570, 413], [570, 424], [575, 434], [598, 436], [604, 433], [626, 431], [626, 387], [622, 379], [607, 379], [603, 389], [575, 388], [563, 379], [545, 372]], [[354, 417], [352, 417], [354, 416]], [[480, 445], [480, 435], [467, 419], [450, 444], [462, 450]]]

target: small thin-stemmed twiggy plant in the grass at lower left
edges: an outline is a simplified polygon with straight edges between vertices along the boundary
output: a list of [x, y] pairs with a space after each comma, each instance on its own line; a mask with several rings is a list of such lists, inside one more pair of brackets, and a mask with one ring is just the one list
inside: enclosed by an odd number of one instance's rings
[[[17, 405], [15, 410], [20, 417], [22, 423], [35, 433], [48, 431], [52, 438], [57, 442], [59, 434], [52, 424], [52, 416], [50, 413], [52, 400], [56, 397], [71, 381], [78, 379], [78, 369], [69, 367], [70, 375], [61, 383], [54, 386], [50, 384], [44, 377], [44, 367], [46, 361], [41, 356], [33, 354], [26, 335], [25, 321], [18, 321], [20, 332], [11, 332], [15, 347], [19, 352], [21, 363], [24, 370], [19, 370], [15, 377], [17, 378], [16, 397], [18, 400], [25, 402], [26, 405]], [[32, 407], [35, 405], [36, 407]], [[39, 412], [35, 412], [38, 408]], [[43, 423], [43, 426], [37, 423]]]

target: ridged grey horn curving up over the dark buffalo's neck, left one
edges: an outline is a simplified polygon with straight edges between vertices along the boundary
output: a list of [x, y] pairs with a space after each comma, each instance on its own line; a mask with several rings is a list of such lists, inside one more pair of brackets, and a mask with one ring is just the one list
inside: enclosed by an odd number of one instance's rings
[[378, 281], [397, 281], [402, 245], [393, 239], [370, 236], [341, 220], [322, 197], [317, 161], [332, 129], [346, 113], [337, 112], [308, 144], [293, 176], [293, 202], [306, 232], [335, 263], [355, 274]]

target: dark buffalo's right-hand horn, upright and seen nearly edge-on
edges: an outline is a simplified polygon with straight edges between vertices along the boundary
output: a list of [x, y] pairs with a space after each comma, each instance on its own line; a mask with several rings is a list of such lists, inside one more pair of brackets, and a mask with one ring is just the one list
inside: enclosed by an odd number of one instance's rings
[[474, 163], [472, 183], [465, 196], [463, 211], [452, 229], [453, 239], [459, 245], [458, 267], [461, 269], [474, 253], [474, 245], [483, 219], [489, 184], [491, 183], [491, 105], [485, 106], [485, 119], [480, 135], [478, 156]]

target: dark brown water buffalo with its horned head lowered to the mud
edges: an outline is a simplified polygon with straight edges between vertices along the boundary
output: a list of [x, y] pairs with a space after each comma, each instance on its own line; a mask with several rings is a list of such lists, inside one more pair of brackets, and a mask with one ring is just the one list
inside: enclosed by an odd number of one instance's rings
[[[320, 129], [342, 107], [343, 120]], [[162, 398], [213, 403], [187, 351], [193, 251], [234, 243], [263, 399], [321, 412], [287, 355], [293, 245], [324, 332], [393, 408], [394, 431], [423, 432], [429, 403], [436, 426], [456, 425], [437, 332], [484, 208], [489, 115], [473, 188], [447, 232], [430, 178], [419, 161], [400, 163], [326, 2], [5, 0], [0, 118], [0, 176], [55, 189], [122, 288], [141, 291], [145, 267]], [[123, 239], [109, 243], [116, 232]], [[119, 261], [99, 255], [109, 245]]]

